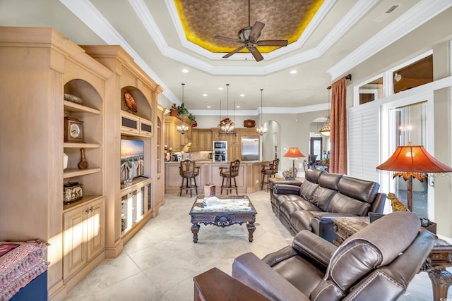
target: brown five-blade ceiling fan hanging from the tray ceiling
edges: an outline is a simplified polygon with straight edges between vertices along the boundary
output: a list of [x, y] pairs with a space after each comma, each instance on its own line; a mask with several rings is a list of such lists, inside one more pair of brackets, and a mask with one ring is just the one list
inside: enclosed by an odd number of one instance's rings
[[228, 57], [232, 56], [232, 54], [236, 54], [240, 50], [244, 49], [245, 47], [251, 52], [251, 54], [254, 56], [254, 59], [256, 61], [262, 61], [263, 56], [260, 51], [254, 46], [280, 46], [284, 47], [287, 46], [287, 39], [265, 39], [263, 41], [258, 41], [258, 38], [261, 36], [261, 31], [263, 27], [265, 26], [264, 23], [256, 21], [254, 25], [250, 26], [249, 21], [250, 16], [250, 6], [248, 1], [248, 26], [242, 28], [237, 33], [239, 39], [232, 39], [231, 37], [222, 37], [220, 35], [215, 35], [215, 39], [223, 39], [225, 41], [229, 42], [237, 42], [242, 43], [244, 46], [241, 46], [237, 49], [232, 50], [229, 54], [226, 54], [223, 56], [223, 59], [227, 59]]

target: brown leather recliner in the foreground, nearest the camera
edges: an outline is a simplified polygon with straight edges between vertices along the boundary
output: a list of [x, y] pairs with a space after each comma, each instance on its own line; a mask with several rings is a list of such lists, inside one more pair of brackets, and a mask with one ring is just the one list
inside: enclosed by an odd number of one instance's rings
[[258, 259], [243, 254], [232, 277], [270, 300], [396, 300], [432, 250], [436, 235], [408, 211], [383, 216], [335, 247], [309, 231]]

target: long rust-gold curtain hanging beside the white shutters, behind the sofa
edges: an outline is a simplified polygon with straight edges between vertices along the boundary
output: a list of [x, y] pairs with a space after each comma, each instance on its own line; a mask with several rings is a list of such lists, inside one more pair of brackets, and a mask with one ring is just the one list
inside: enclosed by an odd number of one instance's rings
[[347, 79], [331, 85], [330, 172], [347, 173]]

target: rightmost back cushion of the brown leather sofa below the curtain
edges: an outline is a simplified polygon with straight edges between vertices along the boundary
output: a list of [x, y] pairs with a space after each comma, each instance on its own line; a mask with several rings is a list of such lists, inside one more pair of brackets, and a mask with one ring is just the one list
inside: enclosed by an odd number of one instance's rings
[[340, 178], [338, 183], [339, 192], [367, 203], [374, 202], [375, 196], [379, 192], [379, 188], [379, 183], [347, 176]]

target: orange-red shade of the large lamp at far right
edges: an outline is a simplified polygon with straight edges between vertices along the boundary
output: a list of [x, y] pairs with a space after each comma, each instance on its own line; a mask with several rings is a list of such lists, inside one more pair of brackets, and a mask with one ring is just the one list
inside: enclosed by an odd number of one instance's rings
[[422, 145], [397, 147], [396, 152], [383, 164], [376, 167], [382, 171], [405, 173], [450, 173], [452, 168], [440, 161], [424, 149]]

